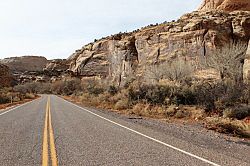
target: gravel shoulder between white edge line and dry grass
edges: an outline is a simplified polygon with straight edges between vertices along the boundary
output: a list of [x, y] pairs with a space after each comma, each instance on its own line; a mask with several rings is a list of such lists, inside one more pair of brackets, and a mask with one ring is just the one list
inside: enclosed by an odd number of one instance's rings
[[[84, 104], [76, 104], [84, 107]], [[128, 127], [133, 127], [135, 130], [138, 129], [146, 134], [147, 131], [150, 130], [155, 133], [155, 136], [163, 141], [171, 142], [171, 139], [176, 139], [183, 142], [183, 147], [185, 146], [185, 143], [188, 143], [196, 147], [215, 151], [229, 158], [235, 158], [249, 163], [249, 139], [232, 137], [226, 134], [208, 130], [203, 127], [204, 125], [201, 122], [170, 122], [166, 119], [152, 119], [147, 117], [125, 115], [119, 112], [96, 109], [93, 107], [84, 108], [87, 108], [103, 117], [114, 119], [116, 121], [118, 120], [120, 124], [124, 124]], [[169, 139], [165, 140], [166, 137], [168, 137]], [[179, 145], [182, 146], [181, 143]]]

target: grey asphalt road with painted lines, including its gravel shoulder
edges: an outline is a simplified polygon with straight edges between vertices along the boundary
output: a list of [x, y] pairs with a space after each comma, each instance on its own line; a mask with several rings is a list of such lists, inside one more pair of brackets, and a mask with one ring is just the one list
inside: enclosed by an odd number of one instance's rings
[[53, 95], [1, 111], [0, 134], [0, 166], [250, 166], [247, 144], [82, 108]]

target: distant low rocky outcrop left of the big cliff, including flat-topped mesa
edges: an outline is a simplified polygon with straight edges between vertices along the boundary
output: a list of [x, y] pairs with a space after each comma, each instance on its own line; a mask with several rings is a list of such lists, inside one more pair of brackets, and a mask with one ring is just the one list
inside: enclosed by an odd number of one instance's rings
[[0, 60], [11, 70], [17, 84], [30, 82], [53, 82], [68, 76], [68, 62], [65, 59], [47, 60], [39, 56], [13, 57]]

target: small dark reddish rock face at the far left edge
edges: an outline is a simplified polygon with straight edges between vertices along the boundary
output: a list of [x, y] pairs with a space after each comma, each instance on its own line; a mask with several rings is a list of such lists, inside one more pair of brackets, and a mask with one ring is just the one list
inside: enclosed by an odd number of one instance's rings
[[0, 64], [0, 87], [11, 86], [13, 78], [7, 66]]

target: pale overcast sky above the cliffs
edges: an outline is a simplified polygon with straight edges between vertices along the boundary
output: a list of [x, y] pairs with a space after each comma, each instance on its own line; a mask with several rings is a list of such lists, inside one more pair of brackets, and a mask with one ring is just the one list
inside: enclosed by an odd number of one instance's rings
[[177, 19], [201, 0], [1, 0], [0, 59], [67, 58], [94, 39]]

